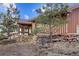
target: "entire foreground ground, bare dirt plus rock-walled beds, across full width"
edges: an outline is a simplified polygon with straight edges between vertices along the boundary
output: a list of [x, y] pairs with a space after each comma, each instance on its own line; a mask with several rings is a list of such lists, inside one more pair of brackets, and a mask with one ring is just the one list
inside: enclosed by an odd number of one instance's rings
[[[72, 38], [73, 39], [72, 39]], [[74, 39], [74, 37], [76, 39]], [[71, 39], [69, 39], [71, 38]], [[2, 40], [0, 55], [13, 56], [79, 56], [79, 41], [77, 36], [54, 35], [50, 42], [48, 35], [34, 38], [20, 36], [14, 40]], [[31, 42], [31, 43], [30, 43]]]

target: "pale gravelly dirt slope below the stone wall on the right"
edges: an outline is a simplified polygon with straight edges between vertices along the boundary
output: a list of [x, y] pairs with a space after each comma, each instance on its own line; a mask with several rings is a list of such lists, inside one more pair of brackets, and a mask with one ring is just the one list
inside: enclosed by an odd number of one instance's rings
[[41, 51], [40, 55], [44, 56], [79, 56], [79, 42], [55, 42], [49, 49]]

